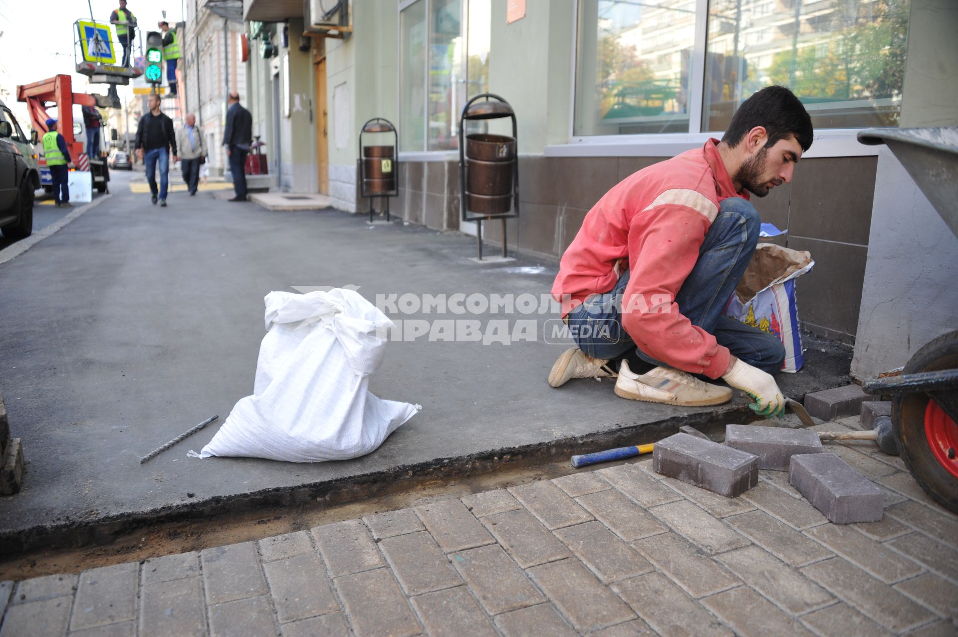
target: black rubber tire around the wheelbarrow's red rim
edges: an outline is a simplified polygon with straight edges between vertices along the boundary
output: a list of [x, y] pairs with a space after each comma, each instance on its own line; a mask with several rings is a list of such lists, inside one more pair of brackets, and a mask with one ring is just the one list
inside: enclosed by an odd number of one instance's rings
[[[903, 373], [947, 369], [958, 369], [958, 331], [927, 343], [908, 360]], [[892, 431], [901, 460], [916, 482], [940, 505], [958, 513], [958, 478], [935, 458], [925, 434], [924, 414], [929, 399], [923, 392], [896, 394], [892, 400]]]

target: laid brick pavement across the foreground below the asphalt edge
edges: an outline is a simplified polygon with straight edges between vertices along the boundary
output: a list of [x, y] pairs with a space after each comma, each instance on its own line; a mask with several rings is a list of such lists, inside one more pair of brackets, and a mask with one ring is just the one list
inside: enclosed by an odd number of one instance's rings
[[730, 500], [647, 459], [0, 582], [0, 637], [958, 633], [958, 516], [874, 444], [830, 450], [885, 490], [881, 522], [829, 523], [784, 472]]

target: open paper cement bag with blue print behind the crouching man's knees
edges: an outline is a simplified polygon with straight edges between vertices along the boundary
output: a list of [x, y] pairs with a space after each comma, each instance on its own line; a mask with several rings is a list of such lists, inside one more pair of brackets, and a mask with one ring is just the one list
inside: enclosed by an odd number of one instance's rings
[[723, 312], [745, 325], [778, 336], [785, 345], [782, 371], [789, 374], [798, 372], [805, 364], [795, 279], [814, 264], [810, 252], [759, 243]]

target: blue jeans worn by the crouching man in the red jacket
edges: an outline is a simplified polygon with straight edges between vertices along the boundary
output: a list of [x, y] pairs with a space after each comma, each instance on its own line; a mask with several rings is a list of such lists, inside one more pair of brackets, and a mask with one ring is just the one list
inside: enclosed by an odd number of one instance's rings
[[[675, 303], [692, 325], [716, 337], [733, 356], [769, 374], [782, 369], [785, 346], [774, 334], [722, 316], [759, 240], [761, 218], [741, 197], [724, 199], [698, 250], [698, 261], [675, 295]], [[568, 315], [568, 324], [582, 352], [595, 358], [635, 353], [653, 365], [667, 365], [635, 346], [622, 327], [621, 303], [629, 273], [605, 294], [590, 297]], [[587, 328], [586, 328], [587, 326]]]

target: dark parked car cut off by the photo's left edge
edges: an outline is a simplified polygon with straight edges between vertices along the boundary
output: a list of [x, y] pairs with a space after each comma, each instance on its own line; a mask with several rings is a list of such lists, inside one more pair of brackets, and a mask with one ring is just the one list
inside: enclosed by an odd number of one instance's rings
[[8, 239], [34, 231], [34, 191], [40, 187], [36, 155], [7, 104], [0, 102], [0, 230]]

